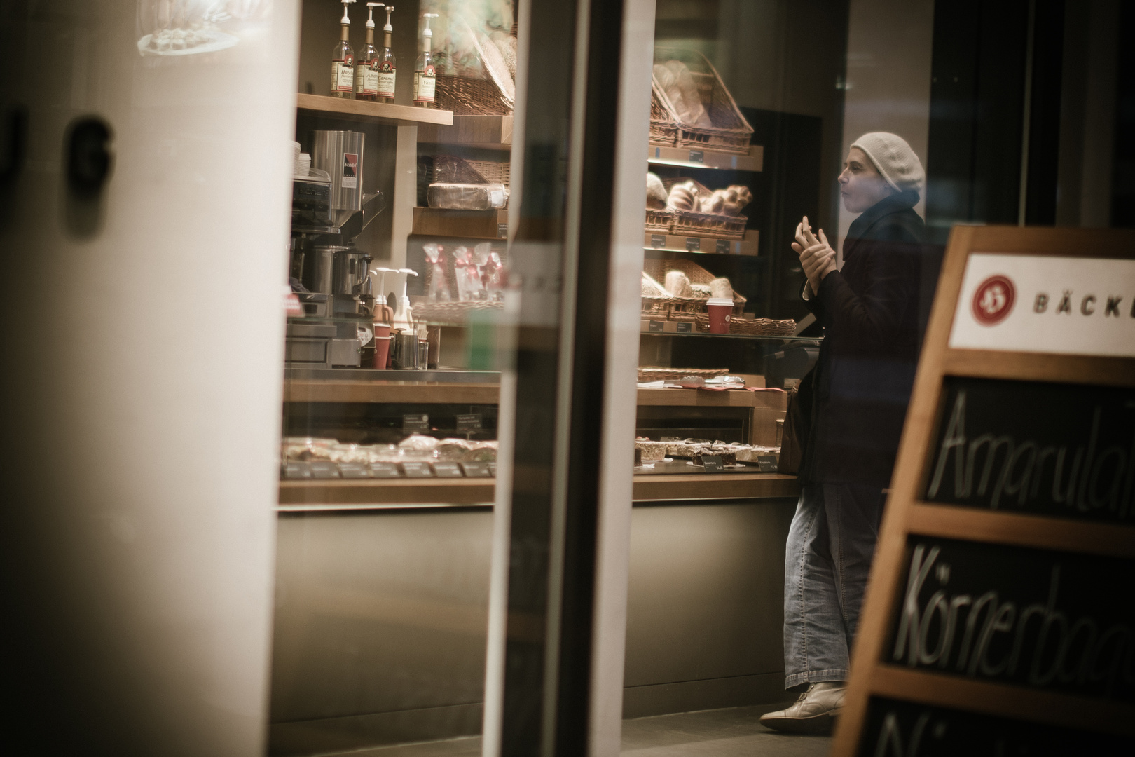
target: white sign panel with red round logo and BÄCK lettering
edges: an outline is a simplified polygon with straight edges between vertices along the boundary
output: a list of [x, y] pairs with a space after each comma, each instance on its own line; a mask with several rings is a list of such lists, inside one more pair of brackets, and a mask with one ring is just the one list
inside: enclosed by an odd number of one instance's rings
[[973, 253], [950, 346], [1135, 356], [1135, 260]]

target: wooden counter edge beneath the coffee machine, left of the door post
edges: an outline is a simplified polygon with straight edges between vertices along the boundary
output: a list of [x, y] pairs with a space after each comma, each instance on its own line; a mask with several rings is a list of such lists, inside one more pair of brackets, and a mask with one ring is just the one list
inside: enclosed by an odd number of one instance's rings
[[495, 405], [498, 384], [288, 379], [284, 402], [381, 402]]

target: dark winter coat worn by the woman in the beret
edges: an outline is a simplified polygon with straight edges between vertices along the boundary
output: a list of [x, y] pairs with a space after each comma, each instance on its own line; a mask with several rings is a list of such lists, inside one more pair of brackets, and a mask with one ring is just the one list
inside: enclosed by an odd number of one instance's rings
[[801, 479], [890, 486], [922, 337], [917, 201], [916, 192], [893, 194], [859, 216], [842, 269], [806, 300], [824, 340], [800, 385], [809, 409]]

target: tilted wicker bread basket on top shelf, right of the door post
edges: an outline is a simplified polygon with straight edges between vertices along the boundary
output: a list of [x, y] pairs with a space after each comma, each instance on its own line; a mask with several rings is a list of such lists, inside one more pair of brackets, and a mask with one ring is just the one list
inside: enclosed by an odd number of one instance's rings
[[[713, 64], [696, 50], [655, 48], [654, 62], [665, 64], [667, 60], [680, 60], [690, 69], [701, 104], [705, 107], [713, 126], [683, 124], [670, 98], [666, 96], [657, 79], [651, 76], [650, 144], [705, 148], [747, 154], [753, 127], [749, 126], [749, 121], [745, 119], [737, 107], [733, 95], [725, 89]], [[440, 81], [440, 77], [438, 79]], [[673, 126], [676, 126], [676, 129], [673, 129]], [[674, 133], [673, 140], [670, 138], [672, 132]]]

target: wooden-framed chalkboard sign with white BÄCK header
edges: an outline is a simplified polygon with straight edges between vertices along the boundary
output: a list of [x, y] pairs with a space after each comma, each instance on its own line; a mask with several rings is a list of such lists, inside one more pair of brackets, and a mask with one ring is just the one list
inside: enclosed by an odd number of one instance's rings
[[832, 754], [1135, 755], [1135, 233], [953, 229]]

